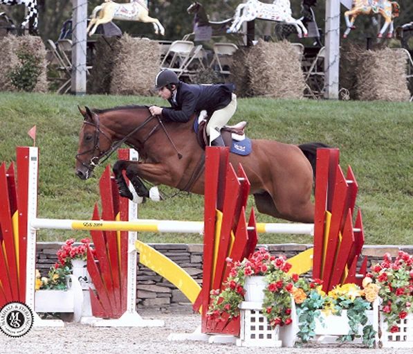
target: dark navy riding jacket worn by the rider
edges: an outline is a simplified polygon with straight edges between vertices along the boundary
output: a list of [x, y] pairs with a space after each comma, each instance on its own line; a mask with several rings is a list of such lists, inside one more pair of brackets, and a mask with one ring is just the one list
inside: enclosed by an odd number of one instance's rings
[[211, 116], [217, 109], [228, 106], [232, 99], [232, 84], [189, 85], [179, 82], [176, 91], [176, 103], [170, 98], [172, 107], [163, 107], [162, 115], [169, 121], [185, 123], [194, 112], [205, 109]]

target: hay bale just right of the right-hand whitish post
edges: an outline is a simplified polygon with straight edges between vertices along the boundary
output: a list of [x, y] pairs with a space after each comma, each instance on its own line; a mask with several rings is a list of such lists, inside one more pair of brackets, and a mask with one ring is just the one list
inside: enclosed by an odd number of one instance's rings
[[409, 100], [403, 53], [390, 48], [360, 51], [354, 54], [354, 60], [355, 96], [359, 100]]

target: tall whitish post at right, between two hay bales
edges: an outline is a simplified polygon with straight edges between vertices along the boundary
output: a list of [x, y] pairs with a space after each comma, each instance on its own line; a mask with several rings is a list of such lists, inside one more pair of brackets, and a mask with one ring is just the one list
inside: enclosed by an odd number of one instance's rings
[[337, 100], [340, 68], [340, 0], [326, 1], [325, 38], [324, 98]]

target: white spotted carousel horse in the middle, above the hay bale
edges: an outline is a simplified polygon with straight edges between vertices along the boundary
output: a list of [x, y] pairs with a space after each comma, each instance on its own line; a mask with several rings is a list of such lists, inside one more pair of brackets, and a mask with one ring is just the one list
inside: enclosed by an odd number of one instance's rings
[[[242, 10], [242, 15], [241, 15]], [[284, 24], [293, 24], [297, 28], [298, 37], [307, 37], [307, 29], [300, 19], [292, 17], [290, 0], [275, 0], [273, 3], [261, 3], [258, 0], [248, 0], [246, 3], [240, 3], [235, 10], [234, 21], [229, 28], [228, 33], [238, 32], [244, 21], [253, 21], [253, 19], [267, 19], [270, 21], [279, 21]]]

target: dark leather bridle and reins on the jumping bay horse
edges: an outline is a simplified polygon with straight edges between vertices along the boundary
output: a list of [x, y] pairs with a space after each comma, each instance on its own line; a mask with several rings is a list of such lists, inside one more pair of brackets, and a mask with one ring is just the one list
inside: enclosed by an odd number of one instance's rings
[[[92, 171], [93, 168], [95, 168], [96, 166], [99, 166], [101, 163], [104, 163], [104, 161], [107, 161], [107, 159], [109, 159], [109, 157], [111, 157], [111, 154], [113, 154], [113, 152], [115, 152], [116, 150], [118, 150], [118, 148], [120, 148], [120, 146], [122, 145], [122, 143], [126, 143], [127, 139], [129, 139], [130, 136], [132, 136], [133, 134], [135, 134], [136, 132], [138, 132], [138, 130], [142, 129], [143, 127], [145, 127], [145, 125], [147, 125], [147, 123], [149, 123], [150, 121], [152, 121], [153, 118], [157, 118], [158, 119], [158, 123], [156, 125], [154, 125], [154, 127], [152, 128], [152, 130], [149, 132], [149, 134], [147, 135], [147, 137], [141, 142], [141, 144], [144, 144], [153, 134], [154, 132], [156, 132], [156, 130], [158, 129], [159, 125], [163, 128], [163, 130], [165, 131], [165, 134], [167, 135], [167, 138], [169, 139], [169, 141], [172, 143], [172, 146], [174, 147], [174, 150], [176, 151], [176, 153], [178, 154], [178, 159], [182, 158], [182, 154], [180, 154], [178, 152], [178, 150], [176, 149], [176, 146], [174, 144], [174, 142], [172, 141], [171, 137], [169, 136], [165, 125], [163, 125], [163, 121], [161, 120], [160, 116], [152, 116], [152, 114], [150, 114], [145, 121], [143, 121], [143, 123], [141, 123], [140, 125], [138, 125], [138, 127], [136, 127], [134, 130], [132, 130], [131, 132], [129, 132], [129, 134], [125, 135], [122, 139], [120, 139], [119, 141], [113, 141], [111, 139], [111, 137], [109, 137], [107, 134], [105, 134], [101, 129], [100, 129], [100, 120], [99, 120], [99, 116], [98, 114], [95, 115], [96, 120], [95, 123], [94, 122], [89, 122], [89, 121], [84, 121], [83, 124], [87, 124], [87, 125], [92, 125], [93, 127], [95, 127], [95, 141], [93, 143], [93, 148], [90, 148], [89, 150], [86, 151], [82, 151], [76, 154], [76, 160], [79, 161], [80, 163], [82, 163], [82, 166], [86, 167], [89, 171]], [[102, 134], [106, 139], [109, 140], [111, 147], [104, 151], [100, 148], [100, 134]], [[97, 156], [93, 156], [91, 157], [89, 163], [85, 163], [83, 162], [80, 157], [84, 154], [87, 154], [89, 152], [94, 152], [95, 150], [98, 150], [98, 155]], [[102, 159], [102, 157], [104, 159]], [[102, 160], [101, 160], [102, 159]]]

